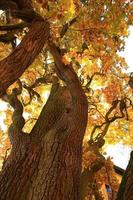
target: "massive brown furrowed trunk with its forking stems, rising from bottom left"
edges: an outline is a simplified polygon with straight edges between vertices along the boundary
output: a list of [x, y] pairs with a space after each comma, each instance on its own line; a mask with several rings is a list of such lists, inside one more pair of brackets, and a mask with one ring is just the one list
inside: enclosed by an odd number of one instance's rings
[[72, 66], [65, 66], [49, 45], [56, 71], [67, 85], [55, 83], [29, 135], [21, 131], [22, 106], [14, 91], [9, 128], [12, 152], [0, 175], [1, 200], [79, 200], [82, 140], [88, 106]]

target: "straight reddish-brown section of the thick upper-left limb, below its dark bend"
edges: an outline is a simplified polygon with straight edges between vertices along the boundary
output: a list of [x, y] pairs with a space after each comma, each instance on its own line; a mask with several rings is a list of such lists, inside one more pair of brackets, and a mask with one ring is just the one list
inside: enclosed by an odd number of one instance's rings
[[0, 96], [32, 64], [48, 37], [48, 22], [42, 19], [34, 20], [22, 42], [0, 62]]

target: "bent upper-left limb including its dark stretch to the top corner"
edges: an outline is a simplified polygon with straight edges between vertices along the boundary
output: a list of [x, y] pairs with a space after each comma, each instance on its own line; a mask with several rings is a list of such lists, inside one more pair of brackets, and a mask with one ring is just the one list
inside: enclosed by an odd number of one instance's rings
[[[2, 4], [2, 2], [4, 2]], [[5, 59], [0, 61], [0, 96], [14, 83], [34, 61], [44, 47], [49, 37], [49, 23], [37, 15], [30, 6], [30, 1], [5, 1], [0, 2], [0, 8], [11, 8], [14, 17], [30, 20], [31, 26], [22, 42]], [[16, 5], [12, 9], [12, 4]]]

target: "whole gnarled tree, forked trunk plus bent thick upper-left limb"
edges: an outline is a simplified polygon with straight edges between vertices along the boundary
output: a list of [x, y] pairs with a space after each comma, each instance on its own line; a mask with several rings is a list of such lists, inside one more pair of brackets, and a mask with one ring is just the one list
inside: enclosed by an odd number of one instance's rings
[[[30, 0], [1, 1], [12, 16], [32, 21], [29, 33], [10, 56], [0, 62], [0, 95], [18, 79], [49, 37], [49, 24], [36, 15]], [[3, 7], [2, 7], [3, 6]], [[26, 9], [26, 10], [25, 10]], [[72, 66], [65, 66], [49, 41], [58, 76], [66, 86], [53, 84], [48, 102], [28, 135], [22, 131], [20, 89], [8, 96], [14, 108], [9, 138], [11, 154], [0, 173], [1, 200], [78, 200], [82, 140], [88, 115], [86, 96]]]

